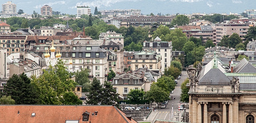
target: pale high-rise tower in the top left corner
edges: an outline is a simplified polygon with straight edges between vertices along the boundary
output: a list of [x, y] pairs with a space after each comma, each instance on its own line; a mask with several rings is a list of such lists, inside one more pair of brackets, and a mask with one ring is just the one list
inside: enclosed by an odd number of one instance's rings
[[7, 1], [2, 4], [2, 14], [16, 14], [17, 8], [16, 4], [12, 3], [12, 1]]

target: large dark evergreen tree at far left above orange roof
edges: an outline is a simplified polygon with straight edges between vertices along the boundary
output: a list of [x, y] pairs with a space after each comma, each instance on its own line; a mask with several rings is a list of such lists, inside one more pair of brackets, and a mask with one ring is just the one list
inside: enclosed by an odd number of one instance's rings
[[5, 96], [11, 96], [15, 104], [37, 104], [38, 95], [35, 87], [30, 83], [30, 78], [25, 73], [14, 74], [4, 85]]

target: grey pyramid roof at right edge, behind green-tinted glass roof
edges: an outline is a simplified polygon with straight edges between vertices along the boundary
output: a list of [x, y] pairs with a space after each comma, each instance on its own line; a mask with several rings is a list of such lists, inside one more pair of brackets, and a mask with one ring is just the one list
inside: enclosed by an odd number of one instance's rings
[[233, 69], [234, 73], [256, 73], [256, 69], [245, 58], [242, 59]]

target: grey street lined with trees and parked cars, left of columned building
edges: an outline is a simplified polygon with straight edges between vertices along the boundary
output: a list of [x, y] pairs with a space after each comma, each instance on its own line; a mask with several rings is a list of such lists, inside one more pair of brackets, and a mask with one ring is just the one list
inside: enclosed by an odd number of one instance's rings
[[[184, 82], [184, 80], [187, 78], [187, 72], [182, 71], [182, 76], [180, 79], [178, 79], [178, 84], [176, 85], [176, 88], [174, 89], [173, 93], [171, 93], [170, 96], [173, 96], [173, 100], [169, 100], [166, 108], [160, 108], [161, 105], [159, 105], [158, 108], [158, 114], [155, 117], [154, 121], [156, 119], [161, 119], [161, 120], [173, 120], [176, 121], [177, 118], [174, 118], [174, 115], [176, 115], [176, 110], [178, 110], [178, 103], [180, 100], [180, 95], [181, 95], [181, 84]], [[174, 99], [175, 96], [175, 99]], [[172, 118], [172, 103], [173, 103], [173, 118]], [[188, 106], [186, 106], [188, 107]], [[181, 112], [179, 114], [179, 121], [181, 121]], [[153, 122], [154, 123], [154, 122]]]

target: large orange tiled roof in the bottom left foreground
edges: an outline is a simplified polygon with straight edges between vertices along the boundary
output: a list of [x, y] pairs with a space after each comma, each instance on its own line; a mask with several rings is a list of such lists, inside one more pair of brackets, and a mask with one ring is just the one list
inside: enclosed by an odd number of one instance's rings
[[[66, 120], [89, 123], [83, 121], [82, 114], [86, 111], [91, 123], [138, 123], [110, 105], [0, 105], [0, 123], [65, 123]], [[92, 115], [95, 111], [97, 116]]]

